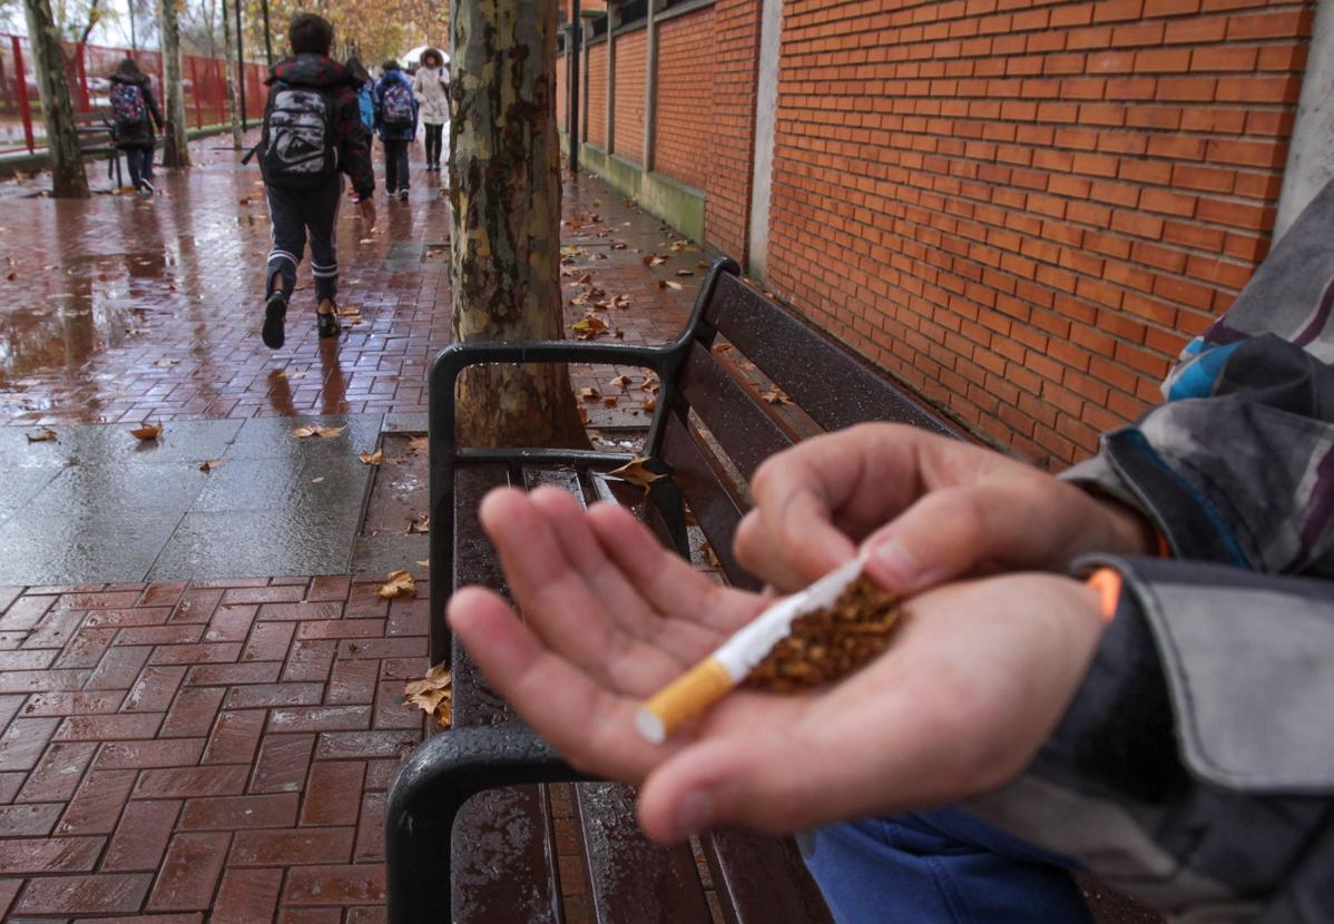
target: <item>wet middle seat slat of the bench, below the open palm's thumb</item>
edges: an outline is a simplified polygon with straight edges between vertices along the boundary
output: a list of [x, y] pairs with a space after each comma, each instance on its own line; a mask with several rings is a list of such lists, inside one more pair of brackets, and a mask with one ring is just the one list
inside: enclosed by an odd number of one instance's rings
[[690, 845], [660, 847], [635, 824], [635, 791], [575, 784], [594, 919], [599, 924], [710, 924]]

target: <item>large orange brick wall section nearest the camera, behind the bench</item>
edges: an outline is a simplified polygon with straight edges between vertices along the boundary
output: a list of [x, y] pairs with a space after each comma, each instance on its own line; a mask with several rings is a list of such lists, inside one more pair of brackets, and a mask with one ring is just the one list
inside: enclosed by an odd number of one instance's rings
[[[1263, 257], [1310, 23], [1259, 0], [787, 0], [768, 284], [990, 439], [1082, 457]], [[740, 253], [714, 185], [708, 209]]]

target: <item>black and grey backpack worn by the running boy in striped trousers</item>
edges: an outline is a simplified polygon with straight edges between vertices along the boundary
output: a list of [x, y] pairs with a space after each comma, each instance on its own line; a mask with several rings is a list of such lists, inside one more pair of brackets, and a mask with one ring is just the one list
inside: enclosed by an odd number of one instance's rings
[[264, 183], [289, 189], [325, 184], [338, 173], [335, 103], [312, 87], [273, 84], [259, 143]]

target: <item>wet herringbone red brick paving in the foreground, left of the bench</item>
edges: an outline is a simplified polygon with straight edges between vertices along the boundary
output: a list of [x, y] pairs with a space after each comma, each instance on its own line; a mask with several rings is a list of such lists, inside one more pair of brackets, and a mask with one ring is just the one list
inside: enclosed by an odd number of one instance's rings
[[383, 920], [427, 584], [0, 591], [0, 917]]

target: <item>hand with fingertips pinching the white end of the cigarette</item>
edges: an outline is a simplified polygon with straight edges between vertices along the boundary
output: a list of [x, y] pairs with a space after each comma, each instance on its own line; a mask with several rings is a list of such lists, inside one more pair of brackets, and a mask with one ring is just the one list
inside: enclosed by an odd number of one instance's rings
[[1149, 555], [1150, 524], [991, 449], [902, 424], [862, 424], [768, 459], [736, 531], [740, 563], [783, 592], [872, 551], [882, 587], [916, 591], [1085, 552]]

